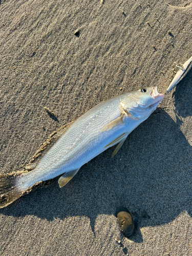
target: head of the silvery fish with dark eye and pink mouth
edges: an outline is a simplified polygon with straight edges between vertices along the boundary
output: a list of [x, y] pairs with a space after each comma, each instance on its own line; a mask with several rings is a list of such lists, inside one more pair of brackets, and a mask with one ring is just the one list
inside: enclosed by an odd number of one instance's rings
[[137, 119], [146, 119], [156, 110], [165, 95], [158, 93], [157, 87], [139, 89], [126, 95], [120, 102], [128, 115]]

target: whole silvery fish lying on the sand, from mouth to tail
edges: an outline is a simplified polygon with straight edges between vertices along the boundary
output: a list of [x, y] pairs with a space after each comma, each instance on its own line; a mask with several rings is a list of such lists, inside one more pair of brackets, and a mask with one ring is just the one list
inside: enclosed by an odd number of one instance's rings
[[66, 128], [37, 166], [28, 173], [0, 175], [0, 208], [3, 208], [39, 182], [62, 175], [59, 187], [65, 186], [88, 163], [109, 147], [117, 147], [146, 120], [163, 100], [157, 87], [118, 95], [94, 106]]

